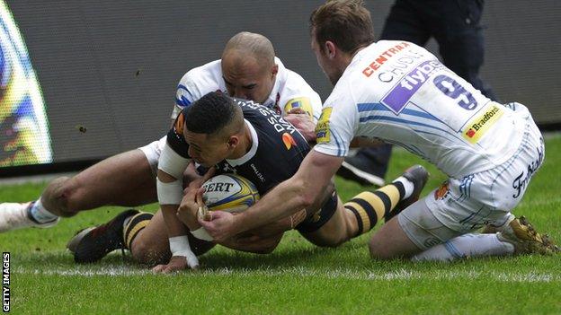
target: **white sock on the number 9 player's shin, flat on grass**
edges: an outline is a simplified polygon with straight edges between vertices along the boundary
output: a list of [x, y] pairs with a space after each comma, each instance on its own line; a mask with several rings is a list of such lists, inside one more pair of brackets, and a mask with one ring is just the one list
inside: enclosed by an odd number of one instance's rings
[[496, 234], [464, 234], [426, 249], [411, 258], [412, 261], [452, 261], [461, 258], [507, 256], [514, 245], [500, 241]]

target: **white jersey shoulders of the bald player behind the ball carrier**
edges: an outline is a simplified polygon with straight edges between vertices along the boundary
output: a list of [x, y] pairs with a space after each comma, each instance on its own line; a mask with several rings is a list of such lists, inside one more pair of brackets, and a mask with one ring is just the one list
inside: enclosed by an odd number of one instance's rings
[[[321, 114], [321, 99], [299, 74], [287, 69], [278, 57], [275, 63], [279, 66], [272, 92], [264, 106], [274, 109], [284, 116], [289, 109], [302, 108], [313, 114], [314, 122]], [[199, 100], [209, 92], [222, 91], [227, 93], [226, 83], [222, 77], [221, 60], [191, 69], [183, 75], [177, 86], [175, 106], [172, 119], [177, 118], [181, 110]]]

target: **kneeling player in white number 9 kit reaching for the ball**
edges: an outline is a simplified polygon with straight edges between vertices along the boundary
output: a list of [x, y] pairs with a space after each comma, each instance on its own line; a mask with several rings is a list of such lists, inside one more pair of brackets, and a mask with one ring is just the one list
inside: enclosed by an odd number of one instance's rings
[[[317, 144], [296, 175], [235, 217], [200, 221], [215, 239], [306, 207], [341, 166], [353, 141], [399, 144], [450, 179], [374, 234], [373, 258], [452, 260], [557, 251], [516, 206], [544, 158], [530, 112], [485, 98], [427, 50], [373, 42], [362, 1], [334, 0], [312, 13], [312, 49], [334, 84], [316, 126]], [[494, 225], [497, 233], [471, 233]]]

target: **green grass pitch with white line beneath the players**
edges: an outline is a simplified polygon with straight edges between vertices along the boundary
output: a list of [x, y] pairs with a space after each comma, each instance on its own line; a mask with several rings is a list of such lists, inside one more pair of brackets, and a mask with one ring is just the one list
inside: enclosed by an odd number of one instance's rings
[[[548, 139], [546, 148], [546, 161], [514, 213], [561, 240], [561, 137]], [[445, 179], [401, 150], [387, 178], [417, 162], [432, 173], [424, 193]], [[42, 188], [2, 186], [0, 201], [35, 199]], [[337, 188], [343, 199], [362, 189], [343, 179]], [[560, 256], [378, 262], [368, 256], [370, 234], [338, 249], [318, 249], [289, 232], [271, 255], [216, 248], [200, 258], [199, 272], [172, 276], [152, 275], [119, 254], [76, 266], [66, 242], [76, 230], [120, 210], [104, 207], [55, 228], [0, 234], [0, 249], [12, 254], [13, 313], [561, 313]]]

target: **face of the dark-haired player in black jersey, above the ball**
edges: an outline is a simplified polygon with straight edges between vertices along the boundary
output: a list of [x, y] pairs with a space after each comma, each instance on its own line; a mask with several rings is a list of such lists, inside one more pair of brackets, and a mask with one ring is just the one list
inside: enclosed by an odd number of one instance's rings
[[223, 136], [197, 134], [185, 129], [183, 136], [189, 144], [189, 156], [204, 167], [212, 167], [223, 161], [232, 152]]

